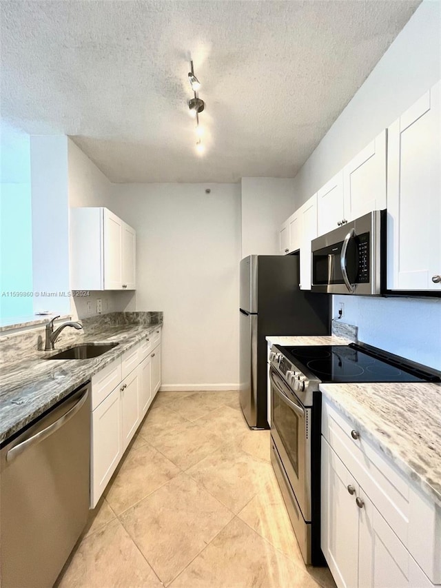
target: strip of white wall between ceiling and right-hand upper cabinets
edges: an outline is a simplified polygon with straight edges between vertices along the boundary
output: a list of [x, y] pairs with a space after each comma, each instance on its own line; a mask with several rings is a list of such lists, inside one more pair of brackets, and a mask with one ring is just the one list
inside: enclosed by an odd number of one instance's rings
[[441, 77], [441, 2], [424, 0], [294, 179], [296, 208]]

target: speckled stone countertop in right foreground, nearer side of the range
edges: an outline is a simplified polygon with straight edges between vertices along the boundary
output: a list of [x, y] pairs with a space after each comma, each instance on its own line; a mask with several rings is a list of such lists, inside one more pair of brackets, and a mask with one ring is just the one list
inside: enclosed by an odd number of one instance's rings
[[320, 384], [320, 390], [441, 507], [441, 384]]

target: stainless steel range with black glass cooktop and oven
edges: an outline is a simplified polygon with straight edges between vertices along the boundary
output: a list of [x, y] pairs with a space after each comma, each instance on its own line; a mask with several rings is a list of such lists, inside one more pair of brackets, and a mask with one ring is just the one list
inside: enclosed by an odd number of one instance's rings
[[440, 372], [370, 345], [271, 347], [271, 463], [302, 556], [320, 549], [320, 383], [441, 381]]

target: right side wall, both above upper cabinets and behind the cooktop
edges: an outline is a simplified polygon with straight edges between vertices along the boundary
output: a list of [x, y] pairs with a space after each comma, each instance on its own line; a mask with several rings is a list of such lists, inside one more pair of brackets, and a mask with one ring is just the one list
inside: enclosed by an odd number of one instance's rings
[[[305, 202], [441, 77], [441, 3], [423, 1], [294, 179]], [[441, 301], [334, 296], [360, 341], [441, 369]]]

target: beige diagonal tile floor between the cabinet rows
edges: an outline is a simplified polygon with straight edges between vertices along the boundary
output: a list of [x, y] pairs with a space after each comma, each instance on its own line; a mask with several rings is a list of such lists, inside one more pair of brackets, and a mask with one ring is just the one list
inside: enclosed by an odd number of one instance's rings
[[237, 392], [161, 392], [127, 449], [61, 588], [334, 587], [305, 567]]

